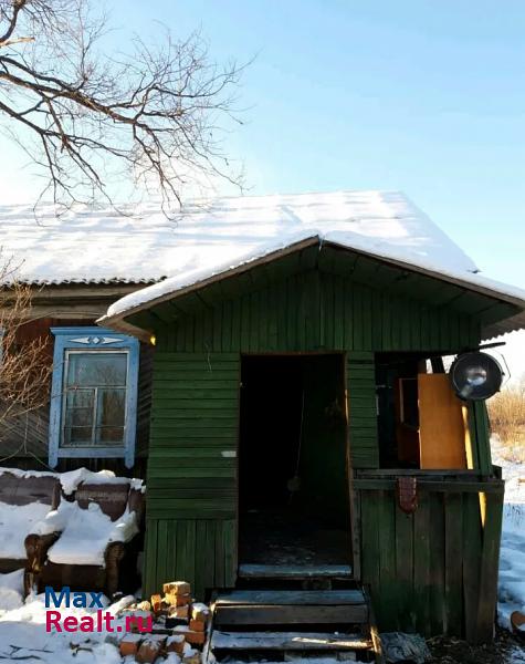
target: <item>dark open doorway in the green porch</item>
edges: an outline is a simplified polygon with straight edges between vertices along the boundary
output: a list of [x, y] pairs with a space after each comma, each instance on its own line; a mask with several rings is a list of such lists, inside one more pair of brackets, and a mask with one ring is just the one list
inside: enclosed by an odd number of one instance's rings
[[246, 355], [241, 382], [240, 563], [349, 566], [344, 356]]

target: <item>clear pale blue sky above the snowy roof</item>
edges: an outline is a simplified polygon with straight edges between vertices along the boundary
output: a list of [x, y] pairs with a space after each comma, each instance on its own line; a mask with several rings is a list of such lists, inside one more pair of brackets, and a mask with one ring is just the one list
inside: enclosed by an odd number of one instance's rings
[[[253, 60], [224, 144], [249, 193], [402, 190], [484, 273], [525, 288], [523, 0], [107, 6], [115, 48], [134, 32], [155, 41], [160, 23], [200, 30], [219, 62]], [[2, 200], [31, 200], [25, 156], [0, 147]], [[523, 336], [512, 354], [525, 371]]]

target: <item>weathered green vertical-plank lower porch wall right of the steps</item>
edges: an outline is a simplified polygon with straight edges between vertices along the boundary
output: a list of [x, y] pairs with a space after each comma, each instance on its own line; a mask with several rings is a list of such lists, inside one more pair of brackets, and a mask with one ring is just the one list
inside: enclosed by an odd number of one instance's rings
[[503, 483], [487, 483], [486, 494], [465, 483], [442, 483], [439, 490], [421, 483], [410, 516], [399, 509], [392, 481], [376, 480], [375, 489], [364, 489], [366, 480], [356, 484], [363, 581], [370, 585], [381, 631], [492, 641]]

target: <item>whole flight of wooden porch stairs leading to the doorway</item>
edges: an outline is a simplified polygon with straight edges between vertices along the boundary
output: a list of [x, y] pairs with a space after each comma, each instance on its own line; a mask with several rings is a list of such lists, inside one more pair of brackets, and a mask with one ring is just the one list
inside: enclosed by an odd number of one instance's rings
[[312, 656], [381, 662], [369, 602], [358, 587], [220, 592], [209, 647], [218, 662]]

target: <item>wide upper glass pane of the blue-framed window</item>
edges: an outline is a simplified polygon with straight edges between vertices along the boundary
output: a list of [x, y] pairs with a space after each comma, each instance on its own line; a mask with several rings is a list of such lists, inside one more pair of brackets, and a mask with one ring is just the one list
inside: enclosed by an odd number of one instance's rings
[[67, 386], [126, 386], [126, 353], [70, 353]]

